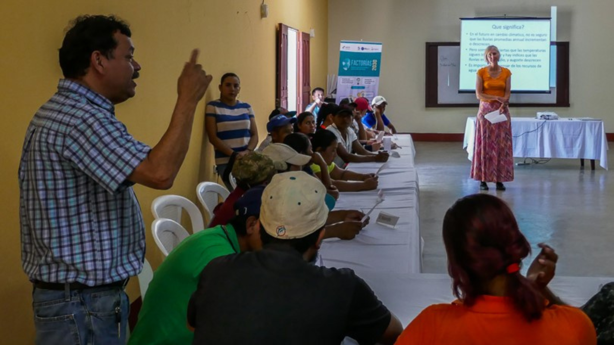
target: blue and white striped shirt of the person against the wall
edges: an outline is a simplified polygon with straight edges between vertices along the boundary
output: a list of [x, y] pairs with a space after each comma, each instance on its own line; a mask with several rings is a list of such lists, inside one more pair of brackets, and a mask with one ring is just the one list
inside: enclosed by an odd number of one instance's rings
[[[249, 104], [238, 101], [235, 106], [228, 106], [216, 99], [207, 103], [205, 115], [216, 118], [217, 138], [235, 152], [247, 149], [249, 139], [252, 138], [250, 119], [254, 118], [254, 110]], [[217, 149], [215, 151], [216, 164], [228, 163], [230, 156]]]

